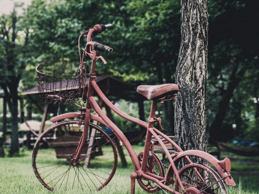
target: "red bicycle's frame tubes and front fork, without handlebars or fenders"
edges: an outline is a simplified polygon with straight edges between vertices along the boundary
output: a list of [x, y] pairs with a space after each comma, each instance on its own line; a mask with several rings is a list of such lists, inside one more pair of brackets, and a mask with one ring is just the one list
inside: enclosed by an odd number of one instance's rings
[[[87, 127], [85, 129], [88, 129], [87, 123], [89, 123], [90, 119], [96, 120], [96, 121], [98, 121], [100, 123], [103, 123], [106, 126], [108, 126], [113, 131], [113, 133], [121, 140], [122, 144], [126, 147], [127, 151], [130, 154], [130, 158], [131, 158], [131, 160], [133, 162], [134, 168], [136, 169], [137, 173], [139, 173], [138, 176], [141, 176], [143, 173], [146, 172], [147, 159], [148, 159], [148, 155], [149, 155], [149, 151], [150, 151], [150, 144], [151, 144], [151, 136], [154, 135], [154, 137], [158, 138], [157, 134], [154, 132], [153, 123], [151, 123], [151, 122], [145, 123], [144, 121], [141, 121], [139, 119], [131, 117], [131, 116], [123, 113], [119, 109], [117, 109], [105, 97], [105, 95], [101, 92], [101, 89], [98, 87], [98, 85], [96, 84], [94, 79], [95, 79], [94, 76], [89, 78], [88, 91], [87, 91], [86, 114], [85, 114], [85, 125], [84, 125], [84, 127]], [[104, 103], [109, 108], [111, 108], [115, 113], [117, 113], [119, 116], [122, 116], [123, 118], [125, 118], [127, 120], [130, 120], [131, 122], [137, 123], [137, 124], [139, 124], [141, 126], [144, 126], [145, 128], [148, 129], [147, 130], [146, 141], [145, 141], [145, 145], [144, 145], [144, 154], [143, 154], [142, 165], [140, 164], [140, 161], [137, 158], [137, 154], [133, 150], [133, 147], [131, 146], [131, 144], [128, 141], [128, 139], [126, 138], [126, 136], [122, 133], [121, 130], [119, 130], [119, 128], [111, 120], [109, 120], [109, 118], [102, 112], [101, 108], [98, 106], [98, 103], [95, 101], [95, 99], [93, 97], [93, 91], [94, 90], [98, 93], [100, 98], [103, 99]], [[156, 103], [152, 102], [152, 109], [151, 109], [150, 118], [154, 118], [155, 106], [156, 106]], [[96, 113], [98, 113], [99, 116], [94, 116], [94, 115], [90, 114], [92, 107], [94, 108]], [[82, 137], [83, 139], [81, 140], [81, 142], [85, 142], [85, 140], [87, 138], [87, 134], [85, 134], [85, 131], [87, 132], [87, 130], [84, 130], [83, 137]], [[172, 144], [175, 145], [178, 149], [180, 149], [174, 142], [172, 142]], [[164, 146], [163, 144], [161, 144], [161, 145]], [[75, 160], [78, 160], [82, 147], [83, 147], [83, 144], [81, 143], [80, 147], [78, 148], [78, 153], [77, 153], [77, 156], [76, 156]], [[177, 171], [176, 166], [173, 163], [172, 157], [170, 157], [170, 154], [169, 154], [169, 152], [168, 152], [168, 150], [166, 148], [165, 148], [165, 153], [169, 156], [169, 160], [170, 160], [170, 163], [172, 164], [173, 170]], [[176, 174], [176, 176], [177, 175], [178, 174]], [[167, 190], [171, 189], [171, 188], [169, 188], [166, 185], [161, 183], [161, 181], [163, 179], [165, 179], [164, 177], [156, 177], [156, 178], [154, 178], [151, 173], [150, 174], [145, 174], [144, 176], [147, 179], [149, 179], [149, 180], [151, 180], [153, 182], [158, 182], [159, 186], [166, 187]], [[178, 176], [178, 178], [179, 178], [179, 176]], [[179, 178], [179, 180], [180, 180], [180, 178]], [[181, 184], [181, 182], [180, 182], [180, 184]]]

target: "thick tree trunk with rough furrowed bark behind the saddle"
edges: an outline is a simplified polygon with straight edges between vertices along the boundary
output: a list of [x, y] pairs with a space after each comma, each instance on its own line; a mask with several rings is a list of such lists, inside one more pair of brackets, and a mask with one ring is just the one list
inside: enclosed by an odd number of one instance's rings
[[205, 86], [207, 82], [207, 1], [182, 0], [181, 47], [176, 67], [175, 134], [183, 150], [207, 151]]

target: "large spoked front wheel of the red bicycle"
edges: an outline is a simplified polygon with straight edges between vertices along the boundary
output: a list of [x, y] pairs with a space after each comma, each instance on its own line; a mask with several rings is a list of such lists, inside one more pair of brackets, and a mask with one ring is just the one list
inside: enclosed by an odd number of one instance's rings
[[[112, 179], [117, 167], [117, 152], [110, 136], [90, 123], [79, 162], [73, 154], [83, 133], [84, 123], [65, 121], [49, 127], [38, 138], [32, 165], [38, 180], [49, 190], [90, 192], [100, 190]], [[94, 135], [94, 138], [90, 138]]]

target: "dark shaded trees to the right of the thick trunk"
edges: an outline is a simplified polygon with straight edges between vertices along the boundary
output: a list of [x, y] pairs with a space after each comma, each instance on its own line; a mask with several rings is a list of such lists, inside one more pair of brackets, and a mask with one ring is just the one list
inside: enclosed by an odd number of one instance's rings
[[[216, 9], [209, 10], [214, 14], [209, 17], [206, 104], [210, 135], [221, 140], [249, 138], [243, 132], [255, 124], [253, 120], [258, 120], [253, 102], [259, 97], [258, 23], [254, 22], [258, 18], [258, 2], [217, 1], [213, 6]], [[232, 124], [237, 125], [234, 130]]]

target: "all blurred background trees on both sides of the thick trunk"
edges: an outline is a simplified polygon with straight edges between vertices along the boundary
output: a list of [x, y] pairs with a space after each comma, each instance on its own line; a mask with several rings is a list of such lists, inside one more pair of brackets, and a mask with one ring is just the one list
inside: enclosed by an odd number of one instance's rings
[[[180, 6], [175, 0], [34, 0], [15, 20], [15, 29], [11, 25], [15, 10], [1, 16], [1, 89], [7, 83], [16, 84], [18, 91], [37, 86], [39, 62], [79, 61], [80, 33], [108, 23], [112, 27], [95, 40], [113, 47], [114, 52], [101, 53], [108, 64], [98, 63], [98, 75], [111, 74], [135, 87], [174, 83], [181, 41]], [[258, 10], [254, 1], [208, 1], [206, 115], [207, 132], [216, 140], [259, 141]], [[10, 57], [12, 62], [8, 62]], [[19, 99], [18, 92], [13, 96]], [[26, 100], [24, 105], [31, 106]], [[37, 108], [30, 109], [37, 112]], [[173, 105], [164, 104], [159, 110], [162, 118], [170, 113], [162, 124], [173, 134]]]

